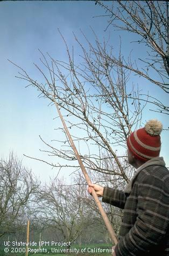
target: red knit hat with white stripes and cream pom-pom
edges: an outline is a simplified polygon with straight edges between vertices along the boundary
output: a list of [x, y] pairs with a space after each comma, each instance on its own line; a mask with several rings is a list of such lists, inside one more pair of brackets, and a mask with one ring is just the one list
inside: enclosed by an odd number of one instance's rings
[[156, 119], [148, 121], [144, 128], [131, 133], [126, 143], [133, 155], [142, 161], [158, 157], [161, 149], [160, 133], [163, 125]]

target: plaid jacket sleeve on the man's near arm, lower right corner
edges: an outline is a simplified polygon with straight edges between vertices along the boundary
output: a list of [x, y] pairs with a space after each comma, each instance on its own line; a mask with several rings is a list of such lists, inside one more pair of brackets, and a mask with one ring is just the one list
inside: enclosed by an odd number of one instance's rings
[[162, 241], [169, 220], [169, 194], [164, 184], [164, 180], [151, 175], [138, 183], [137, 220], [119, 240], [117, 256], [144, 255]]

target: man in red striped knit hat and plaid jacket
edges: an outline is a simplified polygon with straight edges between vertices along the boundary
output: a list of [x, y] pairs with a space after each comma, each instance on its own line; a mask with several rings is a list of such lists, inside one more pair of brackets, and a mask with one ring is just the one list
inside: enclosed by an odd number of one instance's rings
[[[158, 120], [127, 139], [129, 164], [137, 170], [124, 192], [89, 184], [102, 201], [124, 209], [116, 256], [169, 255], [169, 172], [160, 153]], [[93, 187], [93, 188], [92, 188]]]

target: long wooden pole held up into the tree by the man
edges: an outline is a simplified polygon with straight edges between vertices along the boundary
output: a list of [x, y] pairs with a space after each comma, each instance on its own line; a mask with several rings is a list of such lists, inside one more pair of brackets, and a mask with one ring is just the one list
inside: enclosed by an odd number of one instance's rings
[[[53, 100], [54, 100], [55, 106], [57, 107], [57, 110], [58, 110], [58, 113], [59, 113], [61, 122], [62, 122], [62, 124], [64, 125], [64, 129], [65, 129], [65, 132], [66, 132], [66, 134], [67, 134], [67, 136], [68, 136], [69, 142], [71, 143], [72, 149], [73, 149], [73, 151], [74, 151], [74, 153], [75, 153], [76, 158], [78, 159], [78, 162], [79, 162], [79, 165], [80, 165], [80, 167], [81, 167], [81, 170], [82, 170], [82, 172], [83, 172], [83, 174], [84, 174], [84, 176], [85, 176], [85, 179], [86, 179], [86, 181], [87, 181], [87, 184], [90, 184], [90, 183], [91, 183], [90, 178], [89, 178], [89, 176], [88, 176], [88, 174], [87, 174], [87, 172], [86, 172], [85, 166], [84, 166], [83, 163], [82, 163], [81, 157], [79, 156], [78, 150], [76, 149], [76, 147], [75, 147], [75, 145], [74, 145], [74, 142], [73, 142], [73, 139], [72, 139], [72, 137], [71, 137], [71, 134], [69, 133], [69, 131], [68, 131], [68, 129], [67, 129], [65, 120], [64, 120], [64, 118], [62, 117], [62, 114], [61, 114], [61, 112], [60, 112], [59, 106], [58, 106], [57, 102], [55, 101], [55, 98], [54, 98], [54, 97], [53, 97]], [[114, 242], [115, 245], [116, 245], [117, 242], [118, 242], [117, 237], [116, 237], [116, 233], [114, 232], [114, 230], [113, 230], [113, 228], [112, 228], [112, 226], [111, 226], [111, 223], [110, 223], [110, 221], [109, 221], [109, 219], [108, 219], [108, 217], [107, 217], [107, 214], [104, 212], [103, 206], [102, 206], [102, 204], [100, 203], [100, 200], [98, 199], [97, 194], [96, 194], [96, 191], [94, 190], [94, 188], [92, 189], [91, 194], [92, 194], [92, 196], [93, 196], [93, 198], [94, 198], [94, 200], [95, 200], [95, 203], [96, 203], [97, 206], [98, 206], [98, 210], [100, 211], [100, 213], [101, 213], [101, 215], [102, 215], [102, 218], [103, 218], [103, 220], [104, 220], [105, 226], [107, 227], [107, 229], [108, 229], [108, 231], [109, 231], [109, 233], [110, 233], [111, 241], [112, 241], [112, 243]]]

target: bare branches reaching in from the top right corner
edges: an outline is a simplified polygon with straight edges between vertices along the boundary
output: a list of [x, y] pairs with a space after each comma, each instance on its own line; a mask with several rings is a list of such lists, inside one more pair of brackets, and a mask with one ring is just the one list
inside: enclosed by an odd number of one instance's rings
[[[135, 75], [149, 80], [152, 85], [159, 86], [164, 92], [169, 92], [169, 11], [167, 1], [112, 1], [105, 4], [96, 1], [109, 18], [108, 26], [118, 30], [133, 33], [138, 45], [144, 45], [144, 56], [139, 56], [137, 62], [129, 56], [104, 56], [112, 65], [115, 63]], [[100, 16], [98, 16], [100, 17]], [[108, 28], [107, 26], [107, 28]], [[105, 30], [107, 30], [107, 28]], [[143, 100], [145, 100], [143, 98]], [[149, 96], [149, 102], [156, 106], [157, 112], [169, 114], [169, 107], [160, 99]]]

